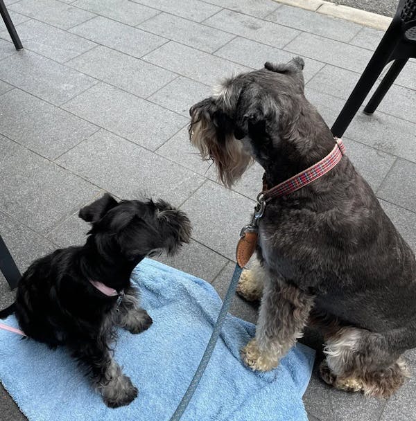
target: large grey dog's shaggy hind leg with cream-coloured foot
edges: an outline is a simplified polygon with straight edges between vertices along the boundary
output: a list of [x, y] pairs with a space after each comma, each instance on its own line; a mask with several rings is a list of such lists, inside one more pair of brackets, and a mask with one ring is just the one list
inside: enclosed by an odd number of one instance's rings
[[324, 382], [345, 391], [389, 397], [404, 384], [408, 370], [403, 348], [392, 334], [340, 328], [326, 338], [326, 360], [320, 366]]

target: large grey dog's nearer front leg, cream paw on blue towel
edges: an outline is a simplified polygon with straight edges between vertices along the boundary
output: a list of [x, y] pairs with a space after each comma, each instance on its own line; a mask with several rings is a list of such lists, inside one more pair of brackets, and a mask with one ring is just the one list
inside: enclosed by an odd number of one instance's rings
[[256, 337], [241, 350], [245, 364], [261, 371], [277, 367], [281, 357], [302, 337], [312, 305], [311, 295], [266, 277]]

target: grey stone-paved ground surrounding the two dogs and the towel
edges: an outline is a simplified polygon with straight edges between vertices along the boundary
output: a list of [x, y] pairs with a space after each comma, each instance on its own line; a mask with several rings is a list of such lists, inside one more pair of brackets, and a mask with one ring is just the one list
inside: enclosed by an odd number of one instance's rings
[[[222, 78], [302, 55], [306, 97], [331, 126], [383, 36], [272, 0], [6, 4], [25, 49], [17, 53], [0, 26], [0, 233], [19, 268], [82, 244], [88, 224], [78, 210], [104, 191], [160, 196], [187, 211], [194, 229], [182, 253], [159, 260], [207, 279], [221, 296], [263, 170], [252, 165], [232, 190], [220, 186], [189, 143], [189, 107]], [[358, 112], [345, 133], [349, 157], [413, 250], [415, 87], [410, 60], [376, 113]], [[12, 299], [0, 276], [0, 308]], [[239, 297], [231, 311], [257, 320], [257, 304]], [[310, 335], [303, 340], [320, 355]], [[406, 358], [415, 369], [416, 350]], [[388, 401], [365, 400], [322, 384], [316, 368], [304, 395], [311, 421], [416, 418], [414, 379]], [[1, 387], [0, 413], [25, 419]]]

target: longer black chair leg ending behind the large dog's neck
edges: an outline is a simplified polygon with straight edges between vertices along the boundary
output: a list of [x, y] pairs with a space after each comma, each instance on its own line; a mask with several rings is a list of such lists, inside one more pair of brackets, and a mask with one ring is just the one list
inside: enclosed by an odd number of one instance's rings
[[338, 118], [335, 123], [333, 123], [331, 128], [333, 136], [343, 136], [345, 130], [349, 126], [349, 123], [351, 123], [352, 119], [356, 115], [356, 112], [361, 107], [361, 104], [363, 104], [365, 97], [372, 89], [377, 78], [379, 78], [384, 66], [389, 62], [390, 55], [392, 54], [392, 51], [397, 45], [399, 39], [397, 36], [398, 30], [400, 29], [395, 26], [395, 22], [393, 21], [388, 30], [385, 32], [383, 39], [381, 39], [376, 51], [374, 51], [367, 67], [365, 67], [356, 87], [347, 99], [347, 102], [345, 102]]

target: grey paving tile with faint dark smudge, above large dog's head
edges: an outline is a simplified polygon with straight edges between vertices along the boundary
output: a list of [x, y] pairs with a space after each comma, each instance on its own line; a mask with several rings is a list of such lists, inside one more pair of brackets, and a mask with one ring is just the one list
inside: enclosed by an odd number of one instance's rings
[[229, 33], [277, 48], [284, 47], [299, 34], [296, 29], [243, 15], [232, 10], [221, 10], [204, 23], [213, 28], [226, 30]]

